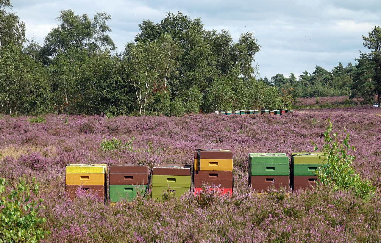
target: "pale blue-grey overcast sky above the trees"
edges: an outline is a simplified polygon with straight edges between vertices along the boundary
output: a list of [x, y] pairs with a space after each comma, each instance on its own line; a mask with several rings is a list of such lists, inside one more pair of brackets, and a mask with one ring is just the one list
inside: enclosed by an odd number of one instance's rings
[[110, 37], [121, 52], [145, 19], [159, 23], [167, 12], [200, 18], [207, 30], [227, 30], [237, 42], [252, 32], [261, 50], [255, 55], [257, 77], [296, 77], [315, 66], [331, 71], [341, 62], [355, 64], [362, 35], [381, 25], [380, 0], [11, 0], [12, 11], [26, 24], [26, 37], [43, 44], [58, 26], [61, 10], [77, 15], [111, 15]]

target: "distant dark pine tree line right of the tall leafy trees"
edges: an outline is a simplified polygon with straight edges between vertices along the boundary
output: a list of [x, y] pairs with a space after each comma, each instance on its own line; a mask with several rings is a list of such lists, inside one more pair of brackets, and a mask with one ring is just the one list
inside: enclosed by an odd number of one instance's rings
[[362, 53], [346, 67], [339, 62], [331, 72], [316, 66], [310, 74], [304, 71], [297, 79], [293, 73], [288, 78], [277, 74], [268, 80], [261, 80], [267, 85], [276, 86], [280, 91], [288, 91], [293, 98], [301, 97], [328, 97], [349, 96], [349, 98], [363, 98], [363, 104], [371, 104], [377, 96], [378, 102], [381, 95], [381, 29], [375, 26], [368, 36], [362, 36], [363, 45], [370, 52]]

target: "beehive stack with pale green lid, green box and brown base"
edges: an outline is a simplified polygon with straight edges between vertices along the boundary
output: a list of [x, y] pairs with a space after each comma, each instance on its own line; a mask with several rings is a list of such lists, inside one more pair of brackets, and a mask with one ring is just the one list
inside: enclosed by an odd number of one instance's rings
[[249, 153], [249, 185], [265, 192], [271, 185], [275, 189], [290, 188], [290, 163], [285, 153]]

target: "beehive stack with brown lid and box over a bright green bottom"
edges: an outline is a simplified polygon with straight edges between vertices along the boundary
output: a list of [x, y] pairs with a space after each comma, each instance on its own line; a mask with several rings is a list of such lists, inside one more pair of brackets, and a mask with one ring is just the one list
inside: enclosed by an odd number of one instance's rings
[[147, 189], [149, 173], [146, 165], [110, 165], [109, 173], [109, 198], [113, 203], [132, 201]]

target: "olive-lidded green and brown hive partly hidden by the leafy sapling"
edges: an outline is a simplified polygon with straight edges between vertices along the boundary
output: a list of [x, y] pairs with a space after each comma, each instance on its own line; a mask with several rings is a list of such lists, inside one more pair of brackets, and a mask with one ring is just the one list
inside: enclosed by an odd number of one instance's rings
[[327, 166], [323, 153], [291, 153], [291, 188], [311, 189], [316, 184], [316, 170]]

